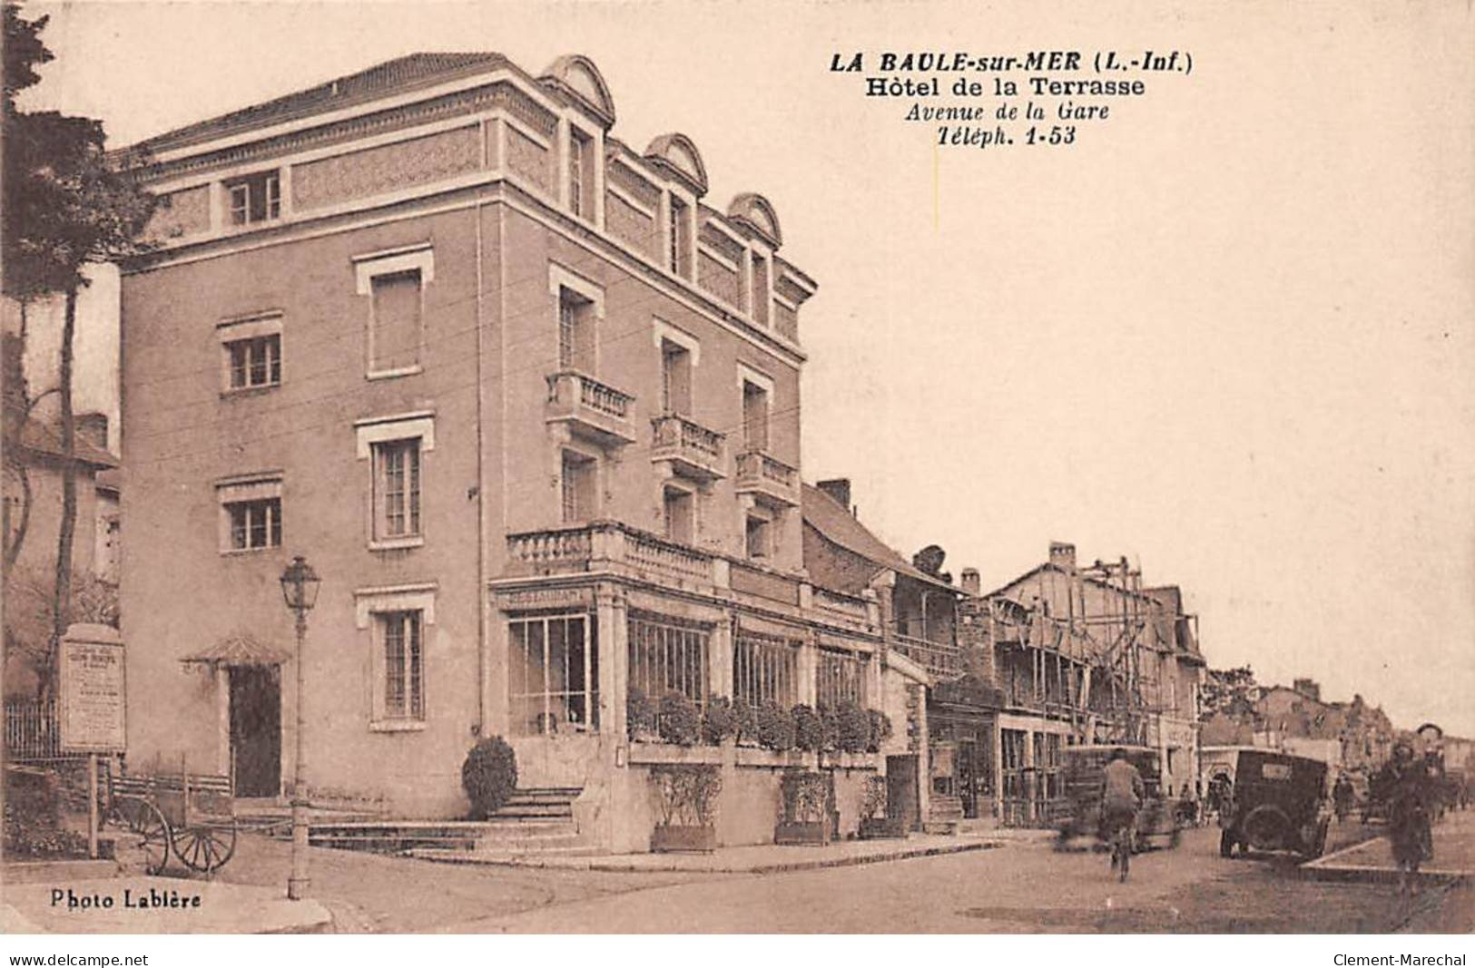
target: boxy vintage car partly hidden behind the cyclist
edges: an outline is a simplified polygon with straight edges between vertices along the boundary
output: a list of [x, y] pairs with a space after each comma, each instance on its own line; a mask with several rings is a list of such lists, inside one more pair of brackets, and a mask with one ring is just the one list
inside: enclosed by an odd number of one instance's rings
[[1127, 762], [1142, 774], [1148, 793], [1137, 810], [1133, 850], [1142, 852], [1149, 846], [1176, 847], [1181, 830], [1177, 802], [1164, 796], [1162, 760], [1158, 750], [1143, 746], [1069, 746], [1062, 750], [1066, 807], [1059, 819], [1058, 846], [1063, 847], [1075, 837], [1094, 837], [1099, 843], [1105, 843], [1102, 771], [1117, 748], [1127, 751]]

